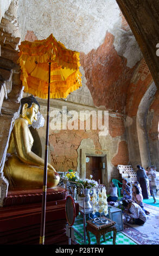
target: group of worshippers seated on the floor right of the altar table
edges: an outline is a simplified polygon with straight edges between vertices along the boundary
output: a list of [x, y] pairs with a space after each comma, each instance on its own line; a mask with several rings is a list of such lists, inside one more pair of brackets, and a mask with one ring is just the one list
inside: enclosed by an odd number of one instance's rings
[[111, 182], [110, 196], [107, 197], [108, 204], [112, 206], [123, 205], [124, 208], [124, 221], [135, 223], [138, 225], [144, 224], [147, 221], [149, 211], [144, 209], [142, 190], [139, 182], [136, 181], [132, 188], [128, 185], [128, 181], [123, 179], [121, 193], [123, 197], [118, 200], [117, 187]]

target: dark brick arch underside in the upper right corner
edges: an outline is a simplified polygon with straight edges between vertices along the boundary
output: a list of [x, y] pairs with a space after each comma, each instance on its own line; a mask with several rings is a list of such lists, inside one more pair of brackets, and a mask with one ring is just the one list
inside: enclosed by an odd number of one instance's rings
[[159, 1], [117, 0], [142, 50], [154, 82], [159, 88]]

